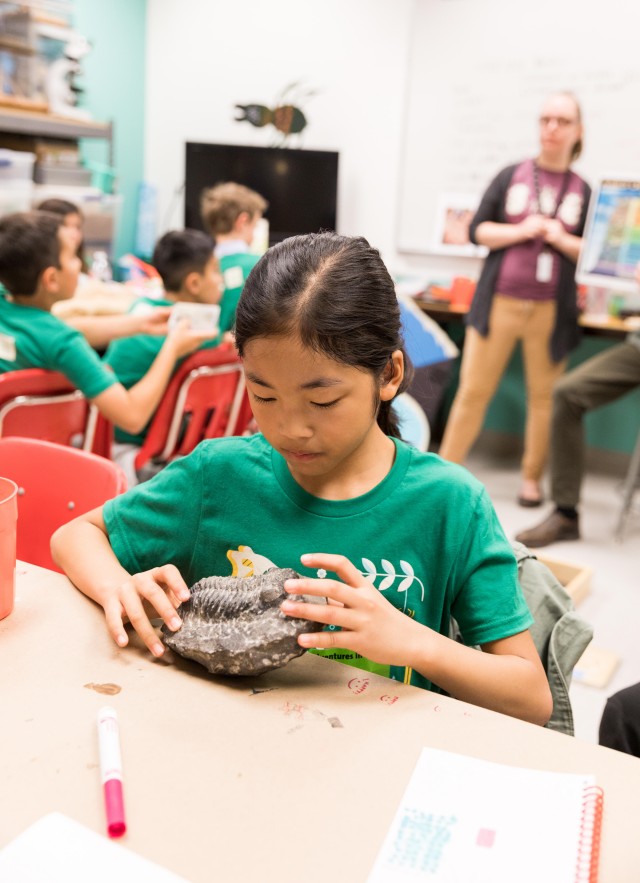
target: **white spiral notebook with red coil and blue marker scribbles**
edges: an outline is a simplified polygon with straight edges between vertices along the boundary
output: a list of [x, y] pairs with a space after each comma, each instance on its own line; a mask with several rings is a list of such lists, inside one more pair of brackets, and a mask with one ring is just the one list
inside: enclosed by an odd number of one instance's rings
[[424, 748], [367, 883], [596, 883], [591, 775]]

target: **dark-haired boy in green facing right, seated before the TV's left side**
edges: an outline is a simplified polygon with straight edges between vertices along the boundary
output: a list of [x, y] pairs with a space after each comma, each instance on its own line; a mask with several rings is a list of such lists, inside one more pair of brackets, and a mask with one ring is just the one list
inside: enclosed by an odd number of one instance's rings
[[[131, 311], [144, 312], [158, 306], [173, 307], [178, 302], [217, 304], [222, 296], [222, 280], [211, 245], [211, 239], [200, 230], [171, 230], [165, 233], [156, 243], [152, 258], [164, 285], [164, 298], [140, 298]], [[147, 373], [164, 342], [165, 338], [156, 334], [123, 337], [109, 345], [104, 361], [125, 389], [131, 389]], [[219, 343], [220, 334], [216, 331], [213, 338], [203, 342], [203, 346], [213, 347]], [[137, 432], [117, 428], [116, 441], [139, 446], [144, 442], [147, 429], [146, 425]]]

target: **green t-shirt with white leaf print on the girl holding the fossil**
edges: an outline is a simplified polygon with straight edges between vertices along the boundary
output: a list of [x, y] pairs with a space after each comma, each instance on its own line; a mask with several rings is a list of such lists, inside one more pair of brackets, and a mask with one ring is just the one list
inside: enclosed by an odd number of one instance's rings
[[[292, 567], [305, 552], [345, 555], [398, 609], [465, 643], [524, 631], [532, 618], [489, 497], [467, 470], [394, 440], [389, 474], [352, 500], [304, 491], [262, 435], [202, 442], [151, 481], [106, 503], [113, 550], [131, 573], [172, 563], [187, 585]], [[346, 650], [324, 655], [416, 686], [404, 668]]]

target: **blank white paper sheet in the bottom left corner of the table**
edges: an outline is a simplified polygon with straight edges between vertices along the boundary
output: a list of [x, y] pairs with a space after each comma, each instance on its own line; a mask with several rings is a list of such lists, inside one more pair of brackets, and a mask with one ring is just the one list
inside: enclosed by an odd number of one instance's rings
[[188, 883], [74, 819], [44, 816], [0, 850], [0, 880], [11, 883]]

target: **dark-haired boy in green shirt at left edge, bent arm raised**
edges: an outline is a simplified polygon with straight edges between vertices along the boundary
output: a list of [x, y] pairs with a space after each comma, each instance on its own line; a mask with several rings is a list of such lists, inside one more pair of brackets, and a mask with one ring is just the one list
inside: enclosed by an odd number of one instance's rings
[[149, 371], [131, 389], [100, 360], [85, 337], [51, 314], [73, 296], [80, 258], [77, 238], [63, 219], [47, 212], [20, 212], [0, 219], [0, 372], [25, 368], [59, 371], [128, 432], [139, 432], [157, 408], [176, 362], [211, 333], [191, 331], [185, 320], [165, 339]]

